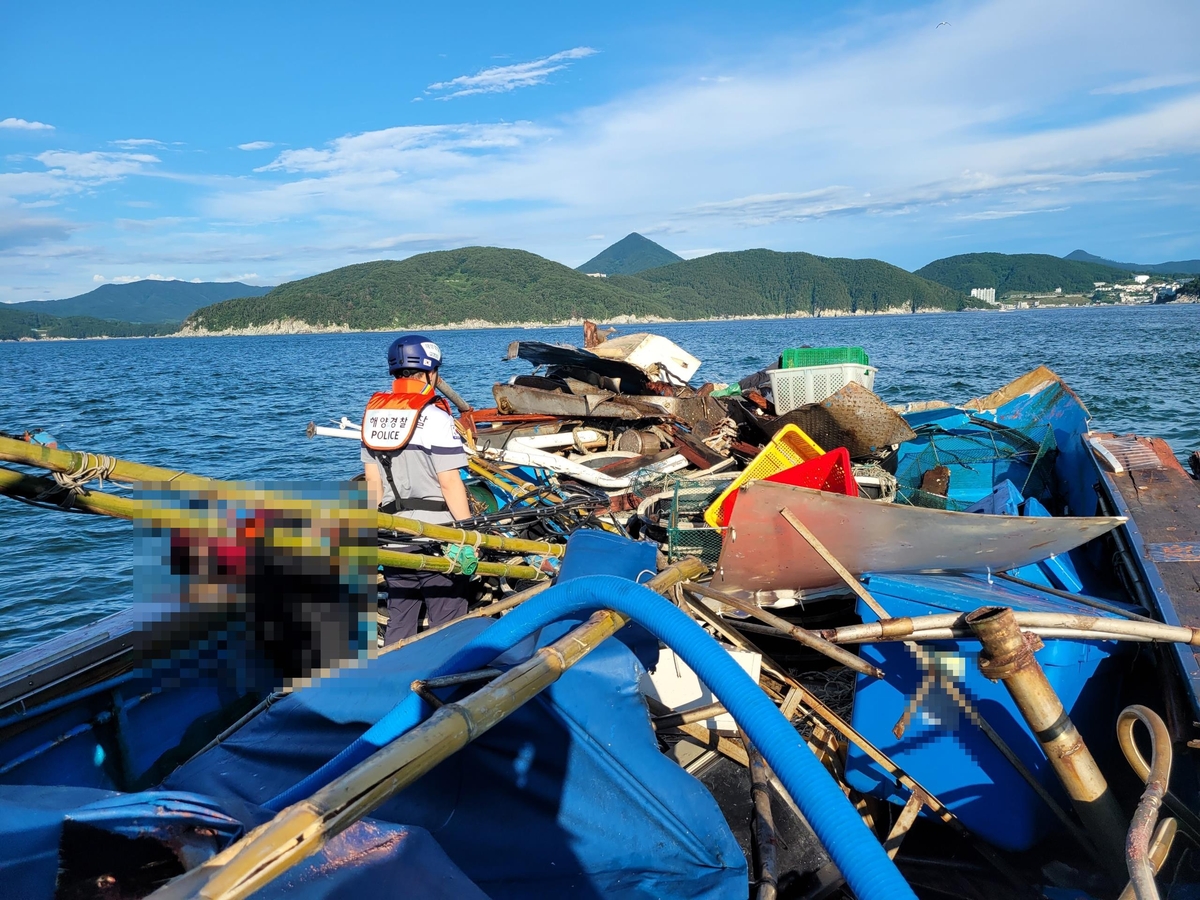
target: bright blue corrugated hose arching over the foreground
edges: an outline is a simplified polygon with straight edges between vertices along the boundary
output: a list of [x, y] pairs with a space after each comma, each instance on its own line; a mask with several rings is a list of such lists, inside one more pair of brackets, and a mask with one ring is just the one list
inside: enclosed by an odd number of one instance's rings
[[[721, 698], [726, 710], [779, 775], [859, 900], [916, 900], [904, 876], [796, 728], [730, 654], [684, 612], [653, 590], [611, 575], [557, 584], [508, 613], [425, 677], [480, 668], [539, 629], [595, 610], [616, 610], [646, 626]], [[419, 725], [430, 712], [420, 697], [409, 694], [346, 750], [265, 804], [266, 809], [280, 810], [304, 799]]]

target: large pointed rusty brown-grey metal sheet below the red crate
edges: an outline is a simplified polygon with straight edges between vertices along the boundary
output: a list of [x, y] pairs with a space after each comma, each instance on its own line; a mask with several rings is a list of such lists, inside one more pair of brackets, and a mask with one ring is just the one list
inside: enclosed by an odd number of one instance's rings
[[1126, 521], [949, 512], [752, 481], [733, 509], [713, 587], [754, 592], [839, 583], [781, 509], [854, 575], [1004, 571], [1066, 553]]

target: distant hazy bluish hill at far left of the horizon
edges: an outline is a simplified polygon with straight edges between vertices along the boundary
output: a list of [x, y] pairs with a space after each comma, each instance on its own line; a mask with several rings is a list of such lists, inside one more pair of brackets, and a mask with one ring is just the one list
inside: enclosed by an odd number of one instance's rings
[[270, 288], [240, 281], [158, 281], [148, 278], [127, 284], [101, 284], [66, 300], [32, 300], [10, 304], [13, 310], [43, 316], [89, 316], [122, 322], [182, 322], [196, 310], [234, 296], [265, 294]]

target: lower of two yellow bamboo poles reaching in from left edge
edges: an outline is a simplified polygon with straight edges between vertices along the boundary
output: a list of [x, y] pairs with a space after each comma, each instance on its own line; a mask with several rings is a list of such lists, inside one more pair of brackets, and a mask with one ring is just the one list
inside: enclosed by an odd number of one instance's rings
[[[211, 486], [212, 482], [209, 482]], [[48, 478], [26, 475], [22, 472], [0, 466], [0, 493], [10, 497], [18, 497], [26, 500], [36, 500], [47, 492], [53, 492], [59, 487], [58, 482]], [[157, 520], [164, 527], [197, 527], [203, 517], [194, 514], [186, 515], [182, 511], [164, 510], [161, 506], [146, 504], [142, 500], [128, 497], [115, 497], [103, 491], [88, 491], [72, 497], [72, 505], [85, 512], [112, 516], [126, 520]], [[451, 529], [455, 530], [455, 529]], [[396, 569], [409, 569], [413, 571], [454, 572], [456, 563], [446, 557], [430, 557], [420, 553], [401, 553], [394, 550], [379, 550], [378, 560], [380, 565], [390, 565]], [[504, 578], [521, 578], [528, 581], [542, 581], [547, 576], [540, 569], [532, 565], [509, 565], [506, 563], [480, 562], [475, 569], [479, 575], [498, 576]]]

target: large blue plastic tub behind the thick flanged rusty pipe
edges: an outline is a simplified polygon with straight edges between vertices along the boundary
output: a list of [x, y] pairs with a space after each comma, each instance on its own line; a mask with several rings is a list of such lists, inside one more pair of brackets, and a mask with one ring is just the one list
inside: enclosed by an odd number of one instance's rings
[[[890, 616], [970, 612], [980, 606], [1097, 614], [1091, 607], [966, 575], [872, 576], [869, 587]], [[858, 612], [864, 622], [877, 620], [862, 604]], [[1069, 809], [1050, 763], [1004, 685], [979, 673], [978, 641], [922, 646], [1042, 785]], [[1129, 647], [1115, 641], [1046, 641], [1037, 654], [1102, 766], [1115, 743], [1112, 724], [1120, 683], [1132, 659]], [[962, 824], [997, 847], [1028, 850], [1055, 827], [1057, 820], [1045, 803], [940, 685], [929, 691], [902, 737], [896, 738], [892, 728], [918, 690], [924, 670], [901, 642], [864, 644], [860, 653], [886, 672], [883, 680], [865, 676], [856, 680], [852, 722], [868, 740], [953, 810]], [[907, 799], [907, 792], [853, 745], [847, 754], [846, 781], [892, 803]]]

